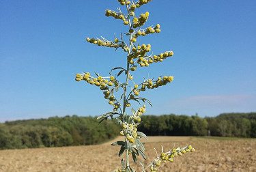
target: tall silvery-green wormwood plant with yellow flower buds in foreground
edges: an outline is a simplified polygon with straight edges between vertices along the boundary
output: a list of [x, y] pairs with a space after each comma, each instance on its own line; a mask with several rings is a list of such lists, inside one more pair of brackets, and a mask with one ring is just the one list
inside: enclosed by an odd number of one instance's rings
[[[147, 55], [151, 51], [150, 44], [136, 43], [137, 39], [141, 36], [160, 33], [161, 31], [159, 24], [154, 27], [142, 28], [150, 16], [149, 12], [142, 13], [139, 16], [135, 15], [135, 10], [150, 1], [152, 0], [139, 0], [136, 2], [118, 0], [118, 2], [124, 6], [125, 13], [122, 12], [121, 8], [117, 8], [117, 11], [106, 10], [106, 16], [122, 20], [124, 25], [128, 27], [127, 33], [121, 33], [120, 38], [116, 36], [114, 40], [106, 40], [106, 38], [103, 37], [86, 38], [87, 42], [91, 44], [122, 49], [126, 53], [126, 67], [112, 68], [109, 72], [109, 76], [100, 76], [98, 73], [92, 76], [89, 72], [76, 74], [76, 81], [83, 80], [99, 87], [103, 91], [104, 98], [113, 106], [113, 111], [100, 115], [97, 119], [102, 122], [110, 117], [115, 120], [121, 128], [120, 134], [124, 136], [124, 141], [112, 143], [112, 145], [120, 146], [119, 156], [124, 156], [121, 160], [122, 167], [115, 170], [120, 172], [134, 171], [134, 169], [130, 167], [130, 158], [132, 158], [135, 163], [139, 162], [141, 164], [142, 171], [146, 171], [147, 169], [150, 169], [150, 171], [158, 171], [158, 167], [160, 167], [162, 162], [173, 162], [175, 156], [181, 156], [186, 152], [195, 151], [191, 145], [182, 148], [173, 147], [168, 152], [164, 152], [162, 147], [160, 156], [158, 156], [156, 152], [156, 158], [147, 166], [144, 166], [143, 162], [138, 159], [140, 155], [146, 159], [145, 147], [141, 142], [142, 138], [146, 139], [146, 135], [143, 134], [143, 132], [139, 132], [137, 126], [142, 122], [141, 115], [145, 113], [145, 103], [152, 106], [150, 100], [139, 96], [139, 94], [141, 91], [156, 89], [173, 81], [173, 76], [159, 76], [156, 79], [144, 78], [141, 83], [135, 83], [133, 80], [132, 73], [134, 73], [138, 66], [141, 68], [147, 67], [152, 63], [158, 63], [173, 56], [173, 51], [166, 51], [158, 55]], [[125, 36], [126, 39], [124, 38]], [[125, 76], [125, 81], [120, 81], [122, 80], [122, 74]], [[120, 90], [122, 93], [118, 94]], [[131, 108], [131, 102], [139, 103], [139, 109], [134, 110]], [[141, 106], [142, 104], [143, 106]], [[128, 108], [131, 108], [131, 115], [126, 111]]]

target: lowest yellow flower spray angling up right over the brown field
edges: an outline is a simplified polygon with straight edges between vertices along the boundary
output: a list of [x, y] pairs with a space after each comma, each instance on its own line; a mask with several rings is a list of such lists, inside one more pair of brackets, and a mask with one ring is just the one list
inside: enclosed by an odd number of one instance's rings
[[150, 171], [156, 172], [158, 171], [158, 167], [160, 167], [162, 162], [173, 162], [173, 158], [175, 156], [182, 156], [182, 154], [186, 154], [187, 152], [194, 152], [195, 148], [193, 148], [191, 145], [188, 145], [186, 147], [177, 147], [176, 149], [171, 149], [169, 152], [162, 152], [162, 154], [156, 158], [150, 167]]

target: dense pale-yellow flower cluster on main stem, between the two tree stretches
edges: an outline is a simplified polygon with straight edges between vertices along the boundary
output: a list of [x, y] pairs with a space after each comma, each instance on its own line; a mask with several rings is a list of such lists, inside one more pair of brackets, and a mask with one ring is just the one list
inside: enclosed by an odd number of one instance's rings
[[122, 124], [123, 130], [120, 132], [122, 136], [126, 136], [128, 141], [130, 143], [135, 143], [135, 139], [137, 138], [137, 126], [134, 124], [128, 124], [127, 122], [124, 122]]

